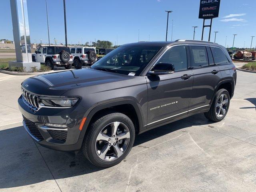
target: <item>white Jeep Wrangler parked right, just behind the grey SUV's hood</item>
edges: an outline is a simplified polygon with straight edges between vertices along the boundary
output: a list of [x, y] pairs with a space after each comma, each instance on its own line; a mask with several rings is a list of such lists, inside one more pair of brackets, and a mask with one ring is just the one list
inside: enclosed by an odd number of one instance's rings
[[91, 66], [97, 60], [95, 47], [70, 47], [70, 52], [74, 58], [73, 65], [76, 69], [82, 68], [83, 64]]

